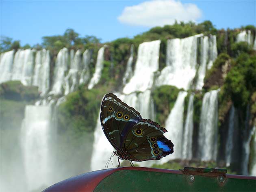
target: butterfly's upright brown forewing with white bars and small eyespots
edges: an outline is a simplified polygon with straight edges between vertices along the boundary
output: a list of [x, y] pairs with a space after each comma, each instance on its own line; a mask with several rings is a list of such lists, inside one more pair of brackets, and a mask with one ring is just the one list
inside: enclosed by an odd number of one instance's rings
[[141, 115], [113, 93], [108, 93], [102, 100], [100, 122], [106, 138], [119, 152], [124, 137], [131, 127], [141, 121]]

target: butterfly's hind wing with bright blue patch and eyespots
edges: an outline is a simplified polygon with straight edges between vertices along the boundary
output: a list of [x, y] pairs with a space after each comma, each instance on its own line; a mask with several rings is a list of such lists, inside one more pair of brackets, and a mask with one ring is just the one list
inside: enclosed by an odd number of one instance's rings
[[163, 136], [167, 130], [150, 119], [143, 119], [136, 123], [128, 132], [123, 142], [132, 161], [160, 160], [174, 152], [171, 140]]

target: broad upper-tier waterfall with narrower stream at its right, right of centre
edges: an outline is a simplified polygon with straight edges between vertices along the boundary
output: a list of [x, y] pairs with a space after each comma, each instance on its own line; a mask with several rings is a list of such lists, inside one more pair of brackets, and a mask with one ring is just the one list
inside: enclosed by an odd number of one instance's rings
[[[206, 67], [209, 69], [217, 58], [216, 36], [210, 39], [202, 34], [184, 39], [167, 40], [166, 67], [156, 80], [156, 86], [174, 85], [178, 88], [189, 89], [197, 71], [197, 39], [200, 38], [200, 63], [196, 89], [202, 89]], [[208, 62], [208, 63], [207, 63]]]

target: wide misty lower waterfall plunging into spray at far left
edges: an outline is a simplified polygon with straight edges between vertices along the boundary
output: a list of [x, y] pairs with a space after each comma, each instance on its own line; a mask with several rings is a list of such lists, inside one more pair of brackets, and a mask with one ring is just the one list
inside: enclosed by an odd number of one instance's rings
[[50, 106], [28, 105], [22, 122], [21, 145], [28, 190], [37, 190], [53, 183], [51, 180], [52, 111]]

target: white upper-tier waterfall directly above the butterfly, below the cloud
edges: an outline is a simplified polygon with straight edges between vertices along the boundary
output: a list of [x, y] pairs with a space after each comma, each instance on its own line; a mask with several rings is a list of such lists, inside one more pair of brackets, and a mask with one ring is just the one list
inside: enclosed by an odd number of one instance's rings
[[145, 91], [153, 85], [154, 72], [158, 70], [160, 40], [144, 42], [139, 45], [134, 75], [124, 86], [124, 94]]

